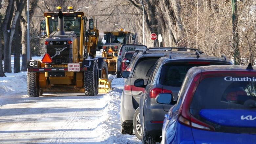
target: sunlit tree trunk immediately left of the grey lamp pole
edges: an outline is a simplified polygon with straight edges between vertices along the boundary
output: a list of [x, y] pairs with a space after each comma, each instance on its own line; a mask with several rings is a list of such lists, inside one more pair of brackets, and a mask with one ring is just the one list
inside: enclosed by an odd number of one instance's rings
[[22, 28], [22, 36], [21, 36], [21, 44], [22, 44], [22, 66], [21, 71], [27, 71], [27, 21], [21, 17], [21, 28]]

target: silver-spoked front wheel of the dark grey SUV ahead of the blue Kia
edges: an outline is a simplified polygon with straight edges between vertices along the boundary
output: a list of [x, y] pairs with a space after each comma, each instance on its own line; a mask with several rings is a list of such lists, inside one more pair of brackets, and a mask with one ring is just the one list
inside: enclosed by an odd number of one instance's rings
[[133, 129], [134, 129], [136, 137], [139, 140], [142, 140], [143, 131], [142, 131], [140, 118], [139, 118], [139, 108], [136, 109], [134, 116], [133, 116]]

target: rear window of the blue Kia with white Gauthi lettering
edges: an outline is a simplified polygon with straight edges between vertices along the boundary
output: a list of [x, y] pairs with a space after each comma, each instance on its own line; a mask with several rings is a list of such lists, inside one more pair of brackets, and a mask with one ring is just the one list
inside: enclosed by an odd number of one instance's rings
[[209, 77], [203, 79], [194, 94], [191, 109], [256, 110], [254, 77]]

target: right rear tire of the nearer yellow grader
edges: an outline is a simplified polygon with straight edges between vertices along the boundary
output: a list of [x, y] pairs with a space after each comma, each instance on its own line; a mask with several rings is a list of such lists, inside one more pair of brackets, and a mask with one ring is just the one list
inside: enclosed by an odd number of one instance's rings
[[95, 64], [93, 65], [93, 70], [84, 72], [84, 93], [86, 96], [98, 94], [98, 74], [96, 72]]

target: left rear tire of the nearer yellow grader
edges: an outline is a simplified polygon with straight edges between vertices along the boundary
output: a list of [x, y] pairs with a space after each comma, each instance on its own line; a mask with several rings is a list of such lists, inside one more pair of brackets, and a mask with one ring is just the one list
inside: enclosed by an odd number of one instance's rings
[[27, 90], [29, 97], [39, 96], [38, 73], [27, 72]]

